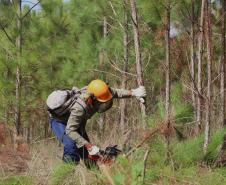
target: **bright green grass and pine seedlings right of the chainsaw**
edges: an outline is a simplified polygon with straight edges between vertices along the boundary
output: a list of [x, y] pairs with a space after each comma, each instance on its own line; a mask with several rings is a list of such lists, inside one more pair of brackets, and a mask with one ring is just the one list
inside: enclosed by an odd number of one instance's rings
[[217, 157], [224, 134], [225, 130], [220, 129], [211, 136], [206, 154], [203, 152], [203, 135], [183, 141], [171, 139], [171, 155], [168, 162], [165, 140], [162, 136], [156, 136], [149, 142], [150, 153], [144, 183], [142, 170], [145, 150], [142, 149], [136, 151], [129, 159], [117, 159], [113, 168], [113, 180], [117, 185], [226, 184], [226, 168], [211, 166]]

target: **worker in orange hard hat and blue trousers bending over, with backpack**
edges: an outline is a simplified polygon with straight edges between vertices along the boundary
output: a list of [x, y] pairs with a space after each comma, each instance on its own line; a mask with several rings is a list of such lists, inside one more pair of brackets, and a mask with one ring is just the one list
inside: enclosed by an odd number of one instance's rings
[[109, 87], [102, 80], [93, 80], [87, 87], [57, 90], [47, 99], [51, 129], [64, 145], [63, 161], [79, 162], [92, 159], [99, 147], [90, 142], [86, 122], [96, 112], [102, 113], [112, 107], [113, 99], [146, 96], [144, 86], [125, 90]]

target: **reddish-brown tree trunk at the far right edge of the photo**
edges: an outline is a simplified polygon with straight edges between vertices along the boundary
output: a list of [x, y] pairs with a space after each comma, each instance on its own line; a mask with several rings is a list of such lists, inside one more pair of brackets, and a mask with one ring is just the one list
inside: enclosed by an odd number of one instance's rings
[[225, 0], [221, 1], [221, 47], [222, 47], [222, 55], [221, 55], [221, 70], [220, 70], [220, 102], [221, 102], [221, 107], [220, 107], [220, 122], [222, 126], [225, 126], [225, 60], [226, 60], [226, 52], [225, 52]]

